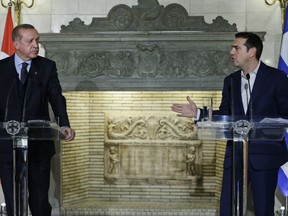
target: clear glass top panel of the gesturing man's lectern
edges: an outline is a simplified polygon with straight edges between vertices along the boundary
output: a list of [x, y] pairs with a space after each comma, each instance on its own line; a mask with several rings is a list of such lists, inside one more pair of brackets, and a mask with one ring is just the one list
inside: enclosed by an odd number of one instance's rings
[[288, 127], [288, 119], [257, 117], [253, 121], [241, 117], [213, 116], [211, 121], [197, 122], [200, 140], [235, 140], [235, 135], [249, 141], [280, 141]]

